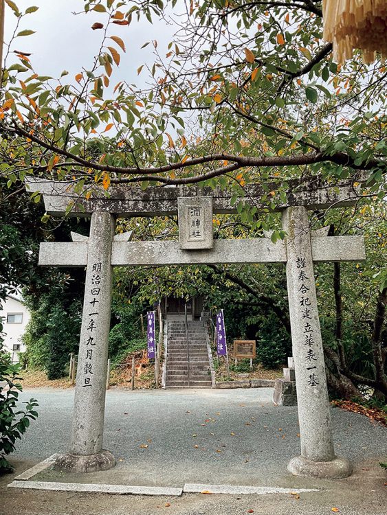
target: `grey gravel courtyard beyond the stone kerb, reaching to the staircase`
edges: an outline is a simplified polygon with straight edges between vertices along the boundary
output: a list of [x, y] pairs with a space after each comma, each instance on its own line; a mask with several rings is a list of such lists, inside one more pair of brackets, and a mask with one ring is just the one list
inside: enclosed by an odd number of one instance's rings
[[[30, 396], [39, 402], [39, 417], [14, 457], [40, 460], [65, 452], [74, 391], [23, 392], [24, 399]], [[339, 455], [355, 463], [387, 455], [385, 428], [362, 415], [331, 411]], [[297, 410], [274, 407], [269, 388], [110, 390], [104, 448], [118, 461], [109, 482], [294, 485], [286, 467], [300, 453]], [[106, 482], [100, 473], [87, 474], [90, 479]]]

